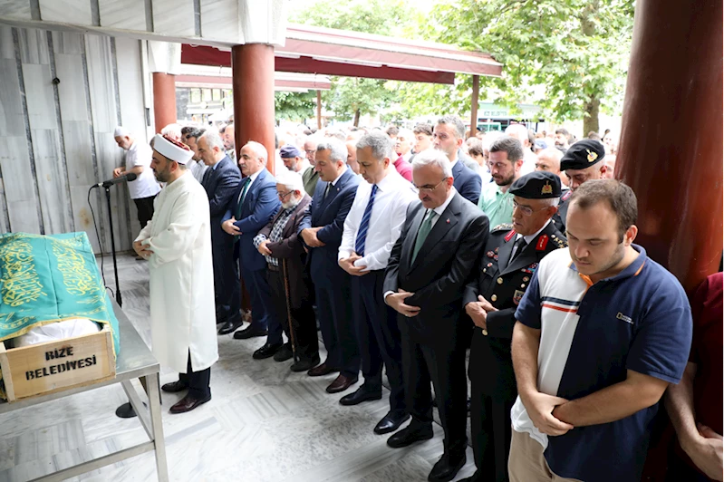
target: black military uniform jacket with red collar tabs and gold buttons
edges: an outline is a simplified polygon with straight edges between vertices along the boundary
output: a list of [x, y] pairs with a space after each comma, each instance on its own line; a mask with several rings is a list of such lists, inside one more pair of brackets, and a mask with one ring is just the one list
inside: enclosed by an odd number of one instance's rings
[[475, 327], [468, 368], [470, 380], [478, 381], [476, 386], [497, 400], [512, 400], [517, 394], [510, 355], [517, 305], [540, 260], [551, 251], [568, 246], [565, 236], [550, 222], [508, 265], [515, 241], [512, 225], [500, 225], [490, 233], [477, 279], [465, 287], [462, 302], [464, 309], [482, 294], [498, 310], [487, 313], [487, 335]]

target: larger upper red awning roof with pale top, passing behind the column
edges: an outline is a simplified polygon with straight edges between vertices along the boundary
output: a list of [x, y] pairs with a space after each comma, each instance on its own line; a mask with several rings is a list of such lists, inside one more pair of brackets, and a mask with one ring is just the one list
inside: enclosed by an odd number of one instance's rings
[[[181, 62], [230, 67], [231, 55], [223, 47], [184, 44]], [[285, 46], [275, 48], [275, 70], [453, 83], [456, 73], [500, 76], [502, 64], [444, 43], [289, 24]]]

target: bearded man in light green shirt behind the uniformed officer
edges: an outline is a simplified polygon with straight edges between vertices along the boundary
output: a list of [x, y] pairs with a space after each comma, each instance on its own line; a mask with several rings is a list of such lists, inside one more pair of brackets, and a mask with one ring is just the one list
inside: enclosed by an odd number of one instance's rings
[[478, 201], [490, 220], [490, 229], [509, 223], [513, 216], [513, 195], [508, 190], [520, 178], [523, 159], [520, 140], [504, 135], [490, 144], [487, 167], [494, 182], [482, 188]]

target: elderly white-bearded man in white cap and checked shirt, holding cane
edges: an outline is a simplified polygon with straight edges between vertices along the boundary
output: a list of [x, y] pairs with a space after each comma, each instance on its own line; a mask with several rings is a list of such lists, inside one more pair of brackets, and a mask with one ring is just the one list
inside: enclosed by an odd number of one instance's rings
[[270, 316], [284, 327], [289, 342], [272, 345], [267, 342], [254, 357], [273, 355], [275, 362], [285, 362], [296, 352], [298, 360], [292, 364], [292, 371], [307, 371], [319, 364], [319, 342], [312, 308], [314, 287], [304, 269], [306, 253], [297, 231], [312, 198], [304, 192], [302, 176], [292, 171], [283, 171], [276, 176], [276, 194], [282, 200], [282, 208], [259, 231], [254, 244], [266, 260], [266, 278], [275, 309]]

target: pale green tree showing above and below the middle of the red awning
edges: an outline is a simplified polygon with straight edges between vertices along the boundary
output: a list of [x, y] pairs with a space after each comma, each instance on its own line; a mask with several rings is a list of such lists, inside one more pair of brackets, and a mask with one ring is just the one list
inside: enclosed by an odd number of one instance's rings
[[[366, 34], [413, 36], [417, 33], [410, 4], [403, 0], [323, 0], [290, 15], [290, 22], [352, 30]], [[363, 114], [377, 113], [399, 98], [387, 82], [376, 79], [333, 77], [332, 89], [323, 93], [325, 107], [338, 119], [358, 125]]]

